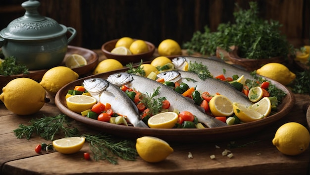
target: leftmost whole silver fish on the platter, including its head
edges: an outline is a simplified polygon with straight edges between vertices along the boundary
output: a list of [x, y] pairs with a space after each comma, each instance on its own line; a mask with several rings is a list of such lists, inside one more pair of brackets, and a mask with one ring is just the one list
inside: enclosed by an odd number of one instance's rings
[[149, 127], [140, 119], [134, 102], [117, 86], [102, 78], [90, 78], [83, 82], [84, 88], [103, 104], [111, 104], [113, 112], [124, 115], [136, 127]]

